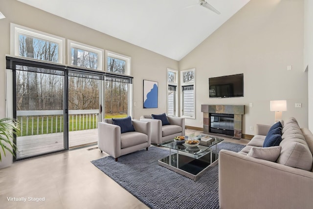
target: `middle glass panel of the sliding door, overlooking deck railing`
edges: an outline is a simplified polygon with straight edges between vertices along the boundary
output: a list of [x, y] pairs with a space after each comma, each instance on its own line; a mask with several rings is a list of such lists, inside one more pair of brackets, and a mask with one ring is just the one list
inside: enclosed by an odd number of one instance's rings
[[96, 143], [102, 81], [92, 74], [70, 72], [69, 75], [72, 75], [68, 77], [69, 148]]

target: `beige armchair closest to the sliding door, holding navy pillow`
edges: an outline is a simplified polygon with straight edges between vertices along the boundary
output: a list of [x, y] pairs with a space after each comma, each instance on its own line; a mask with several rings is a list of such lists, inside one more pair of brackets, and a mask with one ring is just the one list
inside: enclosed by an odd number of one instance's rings
[[112, 119], [98, 123], [98, 148], [115, 158], [132, 153], [151, 145], [150, 122], [132, 120], [133, 132], [121, 133], [121, 127], [114, 125]]

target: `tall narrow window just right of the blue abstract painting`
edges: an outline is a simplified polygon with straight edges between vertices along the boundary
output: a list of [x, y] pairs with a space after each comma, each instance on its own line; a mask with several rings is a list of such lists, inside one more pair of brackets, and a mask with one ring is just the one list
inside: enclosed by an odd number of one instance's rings
[[167, 115], [168, 116], [178, 116], [178, 96], [177, 96], [177, 86], [178, 86], [178, 71], [167, 69]]

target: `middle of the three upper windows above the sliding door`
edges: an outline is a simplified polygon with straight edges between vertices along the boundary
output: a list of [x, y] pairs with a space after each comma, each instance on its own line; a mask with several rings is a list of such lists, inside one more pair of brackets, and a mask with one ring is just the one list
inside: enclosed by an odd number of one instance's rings
[[102, 70], [103, 49], [68, 40], [68, 63], [72, 66]]

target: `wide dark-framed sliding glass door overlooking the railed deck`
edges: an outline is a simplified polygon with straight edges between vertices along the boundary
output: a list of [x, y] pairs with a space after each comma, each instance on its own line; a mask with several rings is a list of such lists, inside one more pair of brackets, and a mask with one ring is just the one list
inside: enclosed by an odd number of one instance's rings
[[133, 77], [15, 57], [6, 57], [6, 69], [12, 77], [9, 116], [22, 131], [15, 160], [96, 143], [102, 111], [107, 117], [131, 113]]

